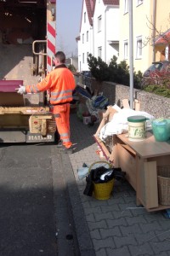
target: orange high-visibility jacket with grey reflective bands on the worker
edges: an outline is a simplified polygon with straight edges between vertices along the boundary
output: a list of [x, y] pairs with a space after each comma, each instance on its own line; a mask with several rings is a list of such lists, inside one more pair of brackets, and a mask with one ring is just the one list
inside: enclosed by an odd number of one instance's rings
[[27, 85], [27, 93], [38, 93], [43, 90], [50, 91], [50, 103], [52, 105], [72, 101], [72, 91], [75, 89], [75, 79], [65, 64], [55, 67], [48, 73], [45, 79], [37, 85]]

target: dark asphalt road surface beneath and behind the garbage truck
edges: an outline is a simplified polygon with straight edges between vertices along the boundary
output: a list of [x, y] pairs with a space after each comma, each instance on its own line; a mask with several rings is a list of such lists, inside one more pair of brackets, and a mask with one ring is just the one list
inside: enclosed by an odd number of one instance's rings
[[[0, 256], [78, 255], [65, 181], [57, 178], [62, 167], [60, 153], [54, 147], [0, 144]], [[60, 195], [65, 206], [61, 208], [56, 201]], [[58, 234], [64, 238], [60, 239], [63, 249], [59, 249]]]

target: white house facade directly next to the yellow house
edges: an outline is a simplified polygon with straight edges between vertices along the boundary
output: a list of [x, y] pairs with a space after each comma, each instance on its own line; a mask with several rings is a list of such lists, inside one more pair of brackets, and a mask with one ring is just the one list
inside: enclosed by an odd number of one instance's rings
[[109, 2], [98, 0], [94, 9], [94, 56], [107, 64], [119, 52], [119, 5]]

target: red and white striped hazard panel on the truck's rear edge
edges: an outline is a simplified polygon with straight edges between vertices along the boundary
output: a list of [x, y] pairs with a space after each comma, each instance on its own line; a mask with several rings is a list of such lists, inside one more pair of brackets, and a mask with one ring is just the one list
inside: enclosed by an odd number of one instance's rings
[[48, 21], [48, 40], [47, 40], [47, 71], [48, 73], [52, 70], [52, 58], [55, 54], [55, 21]]

